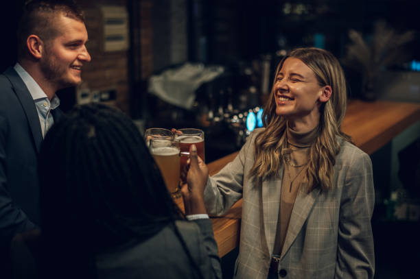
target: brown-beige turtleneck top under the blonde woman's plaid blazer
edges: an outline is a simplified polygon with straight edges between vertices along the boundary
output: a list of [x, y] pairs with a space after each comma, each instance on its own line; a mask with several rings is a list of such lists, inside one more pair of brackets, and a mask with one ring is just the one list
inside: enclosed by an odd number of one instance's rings
[[[273, 254], [280, 255], [288, 231], [290, 215], [294, 206], [296, 195], [305, 176], [305, 169], [309, 158], [310, 146], [316, 138], [317, 128], [310, 132], [296, 132], [289, 126], [286, 129], [288, 147], [283, 148], [281, 154], [285, 157], [283, 180], [281, 181], [281, 201], [279, 218], [277, 221], [277, 234]], [[293, 166], [292, 166], [293, 165]]]

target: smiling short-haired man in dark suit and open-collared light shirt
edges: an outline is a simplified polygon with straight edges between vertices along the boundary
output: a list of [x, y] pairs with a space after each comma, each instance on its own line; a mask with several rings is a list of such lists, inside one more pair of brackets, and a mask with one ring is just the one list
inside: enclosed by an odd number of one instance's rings
[[87, 39], [82, 10], [73, 1], [25, 5], [18, 62], [0, 75], [0, 248], [39, 226], [40, 143], [60, 115], [56, 91], [79, 84], [82, 65], [91, 60]]

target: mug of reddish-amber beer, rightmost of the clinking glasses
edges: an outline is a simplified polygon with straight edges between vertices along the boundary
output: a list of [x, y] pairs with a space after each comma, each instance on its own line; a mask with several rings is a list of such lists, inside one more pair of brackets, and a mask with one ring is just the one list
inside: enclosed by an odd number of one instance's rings
[[184, 128], [177, 130], [178, 132], [174, 135], [175, 141], [178, 141], [181, 157], [180, 157], [180, 171], [185, 171], [185, 166], [187, 165], [187, 160], [189, 155], [189, 147], [191, 145], [196, 145], [197, 154], [205, 160], [205, 147], [204, 147], [204, 132], [200, 129], [193, 128]]

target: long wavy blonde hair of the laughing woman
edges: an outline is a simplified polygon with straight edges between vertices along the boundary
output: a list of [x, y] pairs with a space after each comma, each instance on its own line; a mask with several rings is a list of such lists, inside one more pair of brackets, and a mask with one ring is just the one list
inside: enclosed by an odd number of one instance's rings
[[255, 162], [250, 175], [260, 179], [270, 178], [279, 174], [283, 164], [281, 149], [287, 141], [286, 120], [276, 114], [274, 84], [283, 62], [289, 57], [298, 58], [312, 69], [320, 86], [329, 85], [332, 89], [329, 100], [319, 108], [318, 136], [310, 147], [309, 162], [305, 171], [305, 180], [310, 187], [308, 191], [318, 186], [323, 190], [331, 189], [336, 155], [340, 151], [340, 143], [336, 136], [351, 142], [351, 138], [341, 132], [340, 128], [347, 107], [347, 88], [345, 75], [338, 60], [329, 51], [314, 47], [294, 49], [279, 62], [271, 97], [263, 112], [266, 129], [255, 138]]

